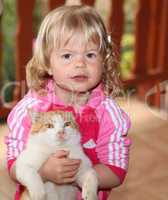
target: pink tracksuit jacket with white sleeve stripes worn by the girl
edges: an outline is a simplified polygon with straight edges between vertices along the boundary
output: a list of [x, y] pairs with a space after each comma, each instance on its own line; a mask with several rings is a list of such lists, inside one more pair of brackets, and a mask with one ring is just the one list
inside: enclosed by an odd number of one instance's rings
[[[52, 81], [47, 85], [47, 95], [38, 96], [29, 91], [13, 108], [8, 116], [9, 134], [6, 138], [8, 169], [24, 149], [31, 121], [27, 108], [45, 112], [63, 109], [73, 112], [79, 124], [81, 143], [85, 153], [93, 164], [107, 165], [122, 182], [128, 168], [130, 139], [127, 133], [130, 128], [128, 115], [112, 100], [105, 97], [101, 85], [93, 90], [87, 104], [77, 113], [72, 106], [65, 106], [55, 95]], [[19, 199], [20, 187], [15, 199]], [[100, 199], [106, 199], [104, 197]]]

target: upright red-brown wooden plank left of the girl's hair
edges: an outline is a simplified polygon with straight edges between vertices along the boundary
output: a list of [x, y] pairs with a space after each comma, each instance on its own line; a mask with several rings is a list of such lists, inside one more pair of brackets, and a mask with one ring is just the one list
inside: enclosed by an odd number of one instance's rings
[[[25, 65], [32, 57], [33, 8], [35, 0], [16, 0], [18, 16], [16, 31], [16, 81], [25, 81]], [[20, 86], [15, 88], [14, 100], [21, 98]]]

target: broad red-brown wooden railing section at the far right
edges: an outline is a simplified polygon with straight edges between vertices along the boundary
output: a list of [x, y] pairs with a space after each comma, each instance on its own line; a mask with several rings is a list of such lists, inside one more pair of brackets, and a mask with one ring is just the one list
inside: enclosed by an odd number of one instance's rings
[[[138, 95], [144, 99], [146, 92], [156, 86], [149, 101], [160, 106], [159, 84], [168, 79], [168, 1], [140, 0], [136, 15], [135, 63], [132, 83], [138, 86]], [[130, 81], [130, 80], [128, 80]]]

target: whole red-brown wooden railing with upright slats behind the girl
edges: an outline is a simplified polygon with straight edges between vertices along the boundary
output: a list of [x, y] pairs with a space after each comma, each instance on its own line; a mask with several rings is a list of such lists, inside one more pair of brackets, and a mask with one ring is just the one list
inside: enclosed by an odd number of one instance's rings
[[[137, 95], [144, 100], [146, 92], [157, 86], [156, 93], [148, 99], [150, 104], [160, 106], [159, 83], [168, 79], [168, 1], [137, 0], [138, 9], [135, 16], [135, 58], [132, 75], [123, 80], [126, 86], [135, 86]], [[94, 6], [95, 0], [81, 0], [83, 4]], [[64, 0], [48, 0], [48, 8], [63, 5]], [[124, 0], [112, 0], [108, 30], [120, 48], [124, 27]], [[25, 83], [25, 65], [32, 56], [32, 15], [35, 0], [16, 0], [18, 15], [16, 33], [16, 81], [13, 103], [1, 104], [0, 115], [5, 116], [13, 105], [21, 98]], [[0, 36], [1, 39], [1, 36]], [[0, 43], [2, 52], [2, 47]], [[1, 63], [0, 54], [0, 63]]]

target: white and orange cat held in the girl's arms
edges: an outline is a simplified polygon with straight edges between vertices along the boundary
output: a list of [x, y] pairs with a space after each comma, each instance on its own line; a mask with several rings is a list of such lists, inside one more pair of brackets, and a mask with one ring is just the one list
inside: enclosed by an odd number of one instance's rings
[[16, 160], [16, 177], [25, 186], [22, 200], [75, 200], [77, 187], [43, 182], [38, 170], [57, 150], [68, 150], [70, 158], [81, 159], [76, 183], [84, 200], [96, 200], [98, 179], [80, 144], [80, 133], [70, 112], [28, 111], [32, 127], [26, 148]]

